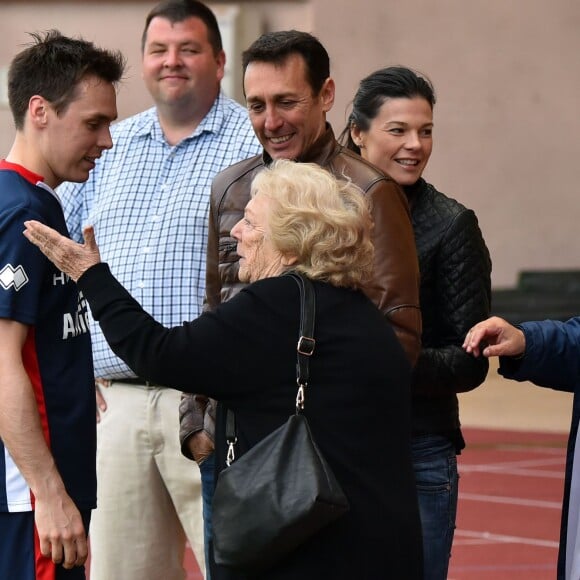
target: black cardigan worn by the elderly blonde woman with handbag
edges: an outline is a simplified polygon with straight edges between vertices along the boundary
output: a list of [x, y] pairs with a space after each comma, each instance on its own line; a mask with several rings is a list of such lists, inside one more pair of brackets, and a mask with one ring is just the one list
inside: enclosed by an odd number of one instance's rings
[[[263, 578], [422, 578], [406, 356], [362, 292], [314, 286], [316, 350], [305, 413], [351, 509]], [[300, 305], [290, 277], [251, 284], [173, 329], [147, 315], [106, 264], [85, 273], [79, 287], [111, 348], [137, 375], [219, 401], [218, 472], [226, 451], [225, 407], [236, 413], [238, 456], [293, 412]], [[219, 566], [213, 574], [215, 580], [245, 578]]]

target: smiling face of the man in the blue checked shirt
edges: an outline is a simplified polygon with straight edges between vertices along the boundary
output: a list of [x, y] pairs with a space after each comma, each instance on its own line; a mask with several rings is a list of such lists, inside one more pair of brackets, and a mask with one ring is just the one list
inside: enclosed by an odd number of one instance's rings
[[224, 76], [225, 55], [208, 39], [205, 23], [151, 20], [143, 49], [143, 80], [158, 106], [213, 103]]

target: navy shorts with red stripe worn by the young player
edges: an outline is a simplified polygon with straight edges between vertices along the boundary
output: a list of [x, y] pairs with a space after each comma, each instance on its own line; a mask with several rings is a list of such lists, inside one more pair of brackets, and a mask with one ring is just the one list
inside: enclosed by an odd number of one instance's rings
[[[85, 530], [90, 512], [81, 512]], [[85, 580], [84, 566], [65, 570], [40, 553], [34, 512], [0, 512], [0, 578], [10, 580]]]

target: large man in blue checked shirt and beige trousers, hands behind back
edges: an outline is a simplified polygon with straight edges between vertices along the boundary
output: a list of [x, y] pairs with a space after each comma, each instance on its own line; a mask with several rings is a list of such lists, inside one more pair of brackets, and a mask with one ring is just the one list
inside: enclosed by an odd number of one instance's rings
[[[220, 92], [225, 55], [204, 4], [158, 4], [142, 53], [155, 107], [116, 124], [89, 181], [58, 193], [71, 237], [93, 224], [121, 283], [176, 326], [202, 308], [212, 179], [260, 146], [246, 109]], [[91, 580], [181, 580], [186, 538], [204, 568], [201, 478], [213, 475], [212, 442], [198, 438], [200, 476], [179, 447], [180, 394], [136, 377], [94, 323], [91, 332], [100, 410]]]

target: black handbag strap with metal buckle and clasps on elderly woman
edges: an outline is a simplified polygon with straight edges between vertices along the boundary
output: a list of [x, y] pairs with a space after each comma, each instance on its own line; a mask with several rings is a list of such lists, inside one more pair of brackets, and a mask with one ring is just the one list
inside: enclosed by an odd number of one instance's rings
[[[300, 290], [300, 330], [296, 344], [296, 383], [298, 384], [296, 414], [299, 414], [304, 410], [305, 389], [308, 386], [310, 371], [308, 361], [316, 346], [316, 340], [314, 339], [316, 298], [314, 286], [306, 276], [294, 270], [287, 272], [286, 275], [290, 276], [298, 284]], [[226, 413], [226, 441], [228, 444], [226, 465], [229, 467], [235, 459], [234, 445], [238, 441], [236, 436], [236, 416], [231, 409], [228, 409]]]

